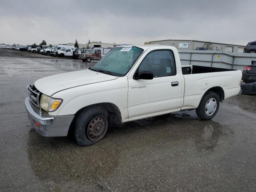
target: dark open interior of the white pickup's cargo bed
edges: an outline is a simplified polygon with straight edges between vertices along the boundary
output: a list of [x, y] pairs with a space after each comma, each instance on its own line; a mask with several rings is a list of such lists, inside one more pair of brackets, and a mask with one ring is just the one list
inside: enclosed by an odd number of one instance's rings
[[234, 69], [224, 69], [216, 67], [206, 67], [198, 65], [185, 65], [182, 66], [182, 74], [199, 74], [199, 73], [212, 73], [212, 72], [223, 72], [223, 71], [235, 71]]

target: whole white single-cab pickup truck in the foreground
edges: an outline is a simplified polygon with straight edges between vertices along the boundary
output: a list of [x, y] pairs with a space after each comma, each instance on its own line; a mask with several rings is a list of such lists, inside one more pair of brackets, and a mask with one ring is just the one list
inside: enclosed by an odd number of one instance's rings
[[93, 68], [48, 76], [27, 86], [26, 111], [42, 136], [67, 136], [79, 145], [99, 141], [108, 126], [196, 109], [210, 120], [220, 101], [240, 93], [242, 72], [181, 66], [176, 48], [118, 46]]

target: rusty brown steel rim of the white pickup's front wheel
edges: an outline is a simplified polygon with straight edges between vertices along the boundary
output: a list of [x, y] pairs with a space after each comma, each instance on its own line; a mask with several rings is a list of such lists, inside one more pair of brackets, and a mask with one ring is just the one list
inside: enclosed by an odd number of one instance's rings
[[87, 136], [91, 141], [98, 141], [106, 134], [108, 122], [102, 115], [98, 115], [90, 120], [87, 127]]

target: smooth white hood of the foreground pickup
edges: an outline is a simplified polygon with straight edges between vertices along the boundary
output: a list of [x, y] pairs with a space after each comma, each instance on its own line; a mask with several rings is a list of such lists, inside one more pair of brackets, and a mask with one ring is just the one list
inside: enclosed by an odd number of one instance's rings
[[41, 93], [52, 96], [61, 90], [116, 78], [118, 77], [86, 69], [44, 77], [36, 80], [34, 86]]

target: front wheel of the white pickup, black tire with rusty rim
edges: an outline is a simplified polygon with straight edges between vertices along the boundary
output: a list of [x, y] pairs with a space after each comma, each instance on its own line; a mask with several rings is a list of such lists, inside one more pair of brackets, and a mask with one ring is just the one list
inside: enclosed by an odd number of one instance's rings
[[108, 130], [108, 121], [108, 112], [101, 106], [82, 110], [76, 118], [74, 131], [78, 145], [88, 146], [101, 140]]

